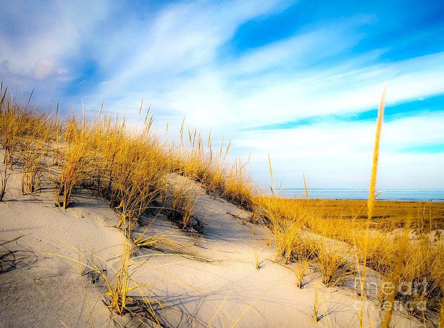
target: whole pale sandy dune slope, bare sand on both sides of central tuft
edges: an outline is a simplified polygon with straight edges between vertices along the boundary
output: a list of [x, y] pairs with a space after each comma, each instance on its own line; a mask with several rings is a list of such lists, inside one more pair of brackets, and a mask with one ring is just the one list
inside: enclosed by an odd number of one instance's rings
[[[1, 264], [0, 327], [89, 327], [89, 308], [94, 327], [152, 326], [129, 315], [113, 315], [111, 319], [102, 302], [100, 279], [95, 282], [95, 277], [81, 276], [84, 268], [73, 260], [44, 255], [78, 259], [77, 248], [116, 268], [122, 234], [113, 227], [118, 218], [106, 201], [80, 190], [74, 194], [74, 206], [63, 211], [54, 207], [50, 188], [37, 196], [21, 196], [13, 189], [19, 185], [18, 177], [12, 177], [8, 198], [0, 203], [0, 244], [20, 237], [0, 249], [0, 254], [11, 252], [8, 261]], [[151, 292], [162, 304], [156, 306], [162, 326], [206, 327], [212, 319], [213, 327], [235, 323], [236, 327], [357, 326], [357, 298], [352, 289], [324, 287], [315, 270], [309, 270], [302, 289], [296, 288], [295, 274], [273, 262], [274, 246], [265, 245], [271, 238], [269, 232], [247, 222], [249, 213], [206, 195], [198, 186], [194, 188], [200, 195], [196, 217], [206, 217], [205, 232], [195, 245], [180, 237], [177, 241], [184, 245], [185, 254], [195, 256], [181, 256], [160, 246], [139, 248], [132, 256], [133, 277], [147, 284], [144, 292]], [[145, 217], [146, 222], [151, 219]], [[133, 235], [144, 229], [142, 225]], [[157, 217], [149, 232], [172, 229], [177, 236], [189, 237], [164, 214]], [[254, 264], [253, 231], [260, 270]], [[92, 255], [90, 259], [97, 261]], [[107, 273], [111, 278], [110, 267]], [[313, 323], [316, 286], [320, 321]], [[378, 327], [380, 320], [379, 310], [370, 307], [364, 327]], [[397, 327], [417, 326], [399, 315], [396, 322]]]

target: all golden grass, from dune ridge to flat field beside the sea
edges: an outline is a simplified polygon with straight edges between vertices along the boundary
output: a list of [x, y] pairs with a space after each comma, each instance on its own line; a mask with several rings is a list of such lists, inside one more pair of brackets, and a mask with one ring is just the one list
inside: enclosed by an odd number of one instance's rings
[[[382, 111], [381, 101], [378, 131]], [[247, 211], [247, 221], [269, 232], [265, 244], [275, 247], [273, 261], [295, 270], [298, 288], [304, 286], [308, 268], [319, 272], [325, 287], [358, 281], [354, 290], [361, 304], [357, 311], [360, 327], [365, 327], [365, 299], [372, 297], [382, 309], [380, 326], [390, 326], [393, 303], [401, 300], [409, 302], [407, 313], [423, 325], [444, 327], [444, 203], [374, 201], [379, 132], [369, 201], [292, 200], [261, 195], [244, 163], [227, 163], [229, 142], [222, 141], [222, 146], [214, 149], [211, 136], [185, 129], [184, 123], [178, 144], [162, 142], [150, 131], [153, 119], [149, 109], [144, 115], [141, 105], [139, 116], [145, 119], [137, 130], [131, 130], [124, 119], [102, 114], [102, 109], [92, 119], [61, 118], [57, 111], [45, 113], [29, 109], [28, 104], [18, 104], [1, 89], [0, 144], [4, 157], [0, 202], [8, 197], [8, 180], [17, 174], [21, 176], [22, 195], [38, 194], [49, 188], [57, 207], [63, 210], [75, 206], [73, 195], [79, 188], [106, 200], [118, 216], [115, 226], [123, 236], [113, 278], [86, 257], [65, 257], [104, 279], [106, 304], [114, 313], [143, 313], [160, 325], [155, 301], [141, 291], [144, 285], [131, 274], [131, 255], [137, 251], [133, 245], [137, 248], [157, 243], [174, 248], [180, 244], [173, 241], [168, 231], [149, 234], [157, 216], [134, 238], [133, 230], [141, 225], [144, 213], [166, 213], [189, 236], [205, 236], [205, 222], [193, 221], [199, 196], [186, 182], [177, 183], [177, 178], [172, 178], [178, 175], [197, 182], [207, 194], [219, 195]], [[270, 174], [272, 177], [271, 165]], [[252, 263], [261, 270], [259, 241], [254, 235], [253, 243]], [[186, 256], [198, 255], [188, 252]], [[366, 289], [369, 270], [378, 277], [375, 295]], [[427, 288], [418, 293], [397, 290], [400, 283], [424, 281]], [[387, 283], [394, 287], [387, 290]], [[318, 321], [320, 307], [317, 288], [314, 323]], [[134, 291], [140, 291], [139, 298], [130, 295]], [[424, 302], [426, 308], [422, 306]], [[233, 327], [252, 306], [253, 303]]]

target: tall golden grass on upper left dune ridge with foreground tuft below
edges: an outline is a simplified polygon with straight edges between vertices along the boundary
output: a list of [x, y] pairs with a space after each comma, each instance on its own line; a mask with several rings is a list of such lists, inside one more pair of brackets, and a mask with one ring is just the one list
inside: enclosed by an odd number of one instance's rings
[[[131, 312], [129, 303], [146, 309], [156, 322], [148, 299], [129, 296], [140, 289], [129, 270], [131, 245], [178, 249], [178, 255], [200, 259], [175, 241], [172, 234], [148, 234], [133, 238], [131, 228], [148, 208], [169, 212], [172, 222], [180, 229], [192, 229], [190, 220], [195, 213], [198, 197], [176, 180], [169, 182], [171, 173], [178, 173], [201, 183], [209, 193], [218, 193], [243, 205], [249, 201], [246, 171], [243, 166], [226, 164], [228, 145], [218, 151], [206, 150], [202, 135], [188, 130], [189, 144], [180, 147], [162, 143], [150, 133], [152, 118], [141, 128], [126, 126], [118, 117], [101, 115], [94, 119], [69, 116], [60, 119], [52, 113], [28, 109], [15, 102], [1, 88], [0, 144], [4, 150], [0, 201], [7, 193], [7, 182], [22, 167], [22, 193], [38, 191], [41, 177], [48, 175], [53, 184], [54, 199], [62, 209], [75, 203], [77, 188], [89, 188], [109, 201], [119, 215], [117, 228], [124, 233], [119, 268], [110, 279], [101, 266], [78, 261], [99, 274], [107, 287], [108, 307], [122, 315]], [[208, 139], [211, 148], [211, 138]], [[208, 156], [207, 156], [208, 155]], [[239, 191], [239, 195], [236, 193]], [[193, 239], [195, 239], [193, 237]], [[134, 242], [134, 244], [133, 244]], [[205, 260], [205, 259], [204, 259]], [[131, 285], [133, 285], [131, 287]]]

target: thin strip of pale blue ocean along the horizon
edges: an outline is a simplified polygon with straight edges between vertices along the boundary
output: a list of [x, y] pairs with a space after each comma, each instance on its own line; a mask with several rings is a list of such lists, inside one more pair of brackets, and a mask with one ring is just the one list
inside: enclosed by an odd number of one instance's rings
[[[379, 189], [377, 200], [384, 201], [417, 201], [444, 202], [444, 189]], [[305, 189], [289, 188], [278, 191], [278, 195], [286, 198], [306, 198]], [[311, 199], [343, 199], [366, 200], [368, 189], [310, 188], [308, 197]]]

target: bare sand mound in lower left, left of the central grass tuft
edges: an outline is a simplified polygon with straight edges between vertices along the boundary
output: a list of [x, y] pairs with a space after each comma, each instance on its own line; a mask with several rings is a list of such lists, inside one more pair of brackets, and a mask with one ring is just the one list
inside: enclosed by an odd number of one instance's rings
[[[12, 178], [10, 186], [17, 187]], [[118, 256], [122, 237], [112, 227], [113, 212], [91, 198], [77, 197], [78, 203], [65, 212], [54, 207], [49, 192], [19, 197], [10, 189], [8, 196], [0, 203], [0, 252], [9, 253], [1, 265], [0, 327], [91, 326], [85, 291], [94, 326], [108, 327], [110, 312], [101, 289], [80, 278], [84, 268], [61, 256], [80, 259], [73, 247], [104, 259]]]

